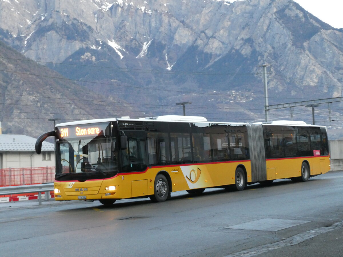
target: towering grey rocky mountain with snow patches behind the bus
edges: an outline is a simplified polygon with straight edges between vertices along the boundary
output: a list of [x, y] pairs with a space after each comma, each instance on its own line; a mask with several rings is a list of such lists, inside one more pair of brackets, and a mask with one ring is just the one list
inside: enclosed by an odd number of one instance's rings
[[[0, 17], [7, 45], [88, 90], [131, 103], [134, 117], [182, 114], [175, 103], [191, 101], [189, 115], [263, 121], [262, 64], [271, 64], [270, 104], [342, 95], [343, 30], [292, 0], [2, 0]], [[331, 113], [338, 121], [341, 106]], [[271, 119], [289, 116], [270, 111]], [[318, 122], [331, 125], [327, 116], [326, 106], [317, 108]], [[311, 118], [309, 108], [294, 113]]]

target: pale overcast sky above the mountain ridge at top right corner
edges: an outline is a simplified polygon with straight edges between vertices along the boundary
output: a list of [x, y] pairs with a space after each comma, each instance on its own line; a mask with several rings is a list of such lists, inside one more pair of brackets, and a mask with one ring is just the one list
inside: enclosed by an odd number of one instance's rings
[[342, 0], [293, 0], [306, 11], [330, 24], [334, 28], [343, 28]]

